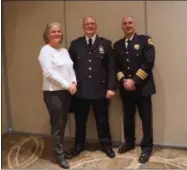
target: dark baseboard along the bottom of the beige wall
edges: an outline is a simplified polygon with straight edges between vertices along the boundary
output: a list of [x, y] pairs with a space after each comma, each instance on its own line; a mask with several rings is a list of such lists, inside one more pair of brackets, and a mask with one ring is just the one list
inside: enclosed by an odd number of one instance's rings
[[[51, 138], [48, 134], [42, 133], [28, 133], [28, 132], [20, 132], [20, 131], [11, 131], [7, 133], [16, 133], [20, 135], [28, 135], [28, 136], [42, 136], [43, 138]], [[65, 141], [74, 141], [74, 137], [65, 137]], [[99, 143], [97, 139], [87, 138], [87, 143]], [[121, 141], [113, 140], [113, 146], [118, 147], [121, 144]], [[140, 146], [140, 143], [136, 143], [136, 146]], [[173, 144], [154, 144], [154, 147], [160, 148], [168, 148], [168, 149], [187, 149], [187, 145], [173, 145]]]

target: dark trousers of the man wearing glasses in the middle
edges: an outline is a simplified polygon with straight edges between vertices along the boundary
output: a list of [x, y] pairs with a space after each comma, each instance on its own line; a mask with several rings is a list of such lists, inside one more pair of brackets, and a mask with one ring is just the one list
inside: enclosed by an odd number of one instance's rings
[[88, 119], [88, 112], [92, 106], [99, 141], [102, 147], [111, 147], [111, 134], [109, 127], [108, 118], [108, 99], [76, 99], [75, 106], [75, 122], [76, 122], [76, 133], [75, 133], [75, 145], [79, 145], [82, 149], [85, 148], [86, 140], [86, 122]]

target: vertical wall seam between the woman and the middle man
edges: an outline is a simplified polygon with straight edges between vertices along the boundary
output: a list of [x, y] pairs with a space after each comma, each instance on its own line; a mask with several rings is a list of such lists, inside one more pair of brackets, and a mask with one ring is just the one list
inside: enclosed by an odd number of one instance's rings
[[[68, 48], [67, 46], [67, 37], [68, 37], [68, 33], [67, 33], [67, 18], [66, 18], [66, 1], [64, 0], [63, 1], [63, 14], [64, 14], [64, 33], [65, 33], [65, 36], [64, 36], [64, 46], [65, 48]], [[71, 137], [71, 114], [68, 114], [68, 122], [69, 122], [69, 136], [68, 137]]]

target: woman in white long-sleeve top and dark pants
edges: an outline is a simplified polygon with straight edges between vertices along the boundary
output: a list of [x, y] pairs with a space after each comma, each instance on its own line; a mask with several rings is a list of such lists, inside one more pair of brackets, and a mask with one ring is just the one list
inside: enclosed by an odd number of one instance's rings
[[58, 164], [69, 168], [63, 149], [71, 95], [76, 92], [76, 77], [68, 51], [61, 47], [63, 39], [59, 23], [47, 24], [43, 34], [46, 43], [40, 50], [43, 71], [43, 97], [50, 115], [53, 149]]

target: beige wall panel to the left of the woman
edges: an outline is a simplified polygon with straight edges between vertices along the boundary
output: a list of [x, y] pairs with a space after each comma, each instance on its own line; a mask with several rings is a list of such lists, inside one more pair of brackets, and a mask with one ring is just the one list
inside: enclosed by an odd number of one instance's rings
[[63, 2], [16, 1], [5, 2], [4, 7], [13, 129], [49, 133], [38, 54], [46, 23], [57, 20], [64, 25]]

